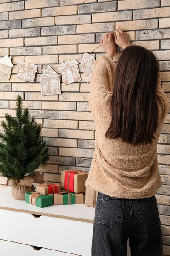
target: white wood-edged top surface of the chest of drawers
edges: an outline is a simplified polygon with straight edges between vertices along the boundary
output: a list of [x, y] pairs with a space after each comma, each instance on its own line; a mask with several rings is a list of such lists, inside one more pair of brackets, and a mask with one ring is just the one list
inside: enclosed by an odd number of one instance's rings
[[24, 200], [14, 199], [11, 194], [11, 189], [11, 187], [0, 189], [0, 209], [94, 223], [95, 208], [93, 207], [86, 207], [85, 204], [72, 204], [52, 205], [40, 208], [28, 204]]

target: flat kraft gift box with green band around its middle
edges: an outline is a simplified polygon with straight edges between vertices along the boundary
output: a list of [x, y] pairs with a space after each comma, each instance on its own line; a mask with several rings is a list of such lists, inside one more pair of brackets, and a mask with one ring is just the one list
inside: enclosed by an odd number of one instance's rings
[[62, 191], [54, 194], [54, 205], [59, 204], [84, 204], [83, 193]]

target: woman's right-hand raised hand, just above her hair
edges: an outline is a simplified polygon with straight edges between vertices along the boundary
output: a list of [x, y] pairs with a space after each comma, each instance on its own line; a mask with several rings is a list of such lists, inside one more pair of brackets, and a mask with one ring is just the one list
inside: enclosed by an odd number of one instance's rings
[[131, 46], [129, 36], [126, 32], [122, 31], [121, 28], [118, 28], [114, 32], [114, 41], [119, 47], [125, 49], [128, 46]]

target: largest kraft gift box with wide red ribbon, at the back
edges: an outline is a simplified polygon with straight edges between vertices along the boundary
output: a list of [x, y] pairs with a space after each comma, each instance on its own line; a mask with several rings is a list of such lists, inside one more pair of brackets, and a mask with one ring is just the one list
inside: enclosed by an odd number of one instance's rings
[[87, 177], [88, 172], [79, 170], [61, 171], [61, 188], [75, 193], [85, 192]]

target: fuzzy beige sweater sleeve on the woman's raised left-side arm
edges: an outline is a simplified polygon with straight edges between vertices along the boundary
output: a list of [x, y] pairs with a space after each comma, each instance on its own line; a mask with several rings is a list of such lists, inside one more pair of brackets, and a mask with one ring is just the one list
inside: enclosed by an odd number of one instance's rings
[[[107, 130], [116, 64], [109, 55], [99, 57], [90, 82], [90, 108], [97, 131]], [[109, 127], [109, 126], [108, 126]]]

